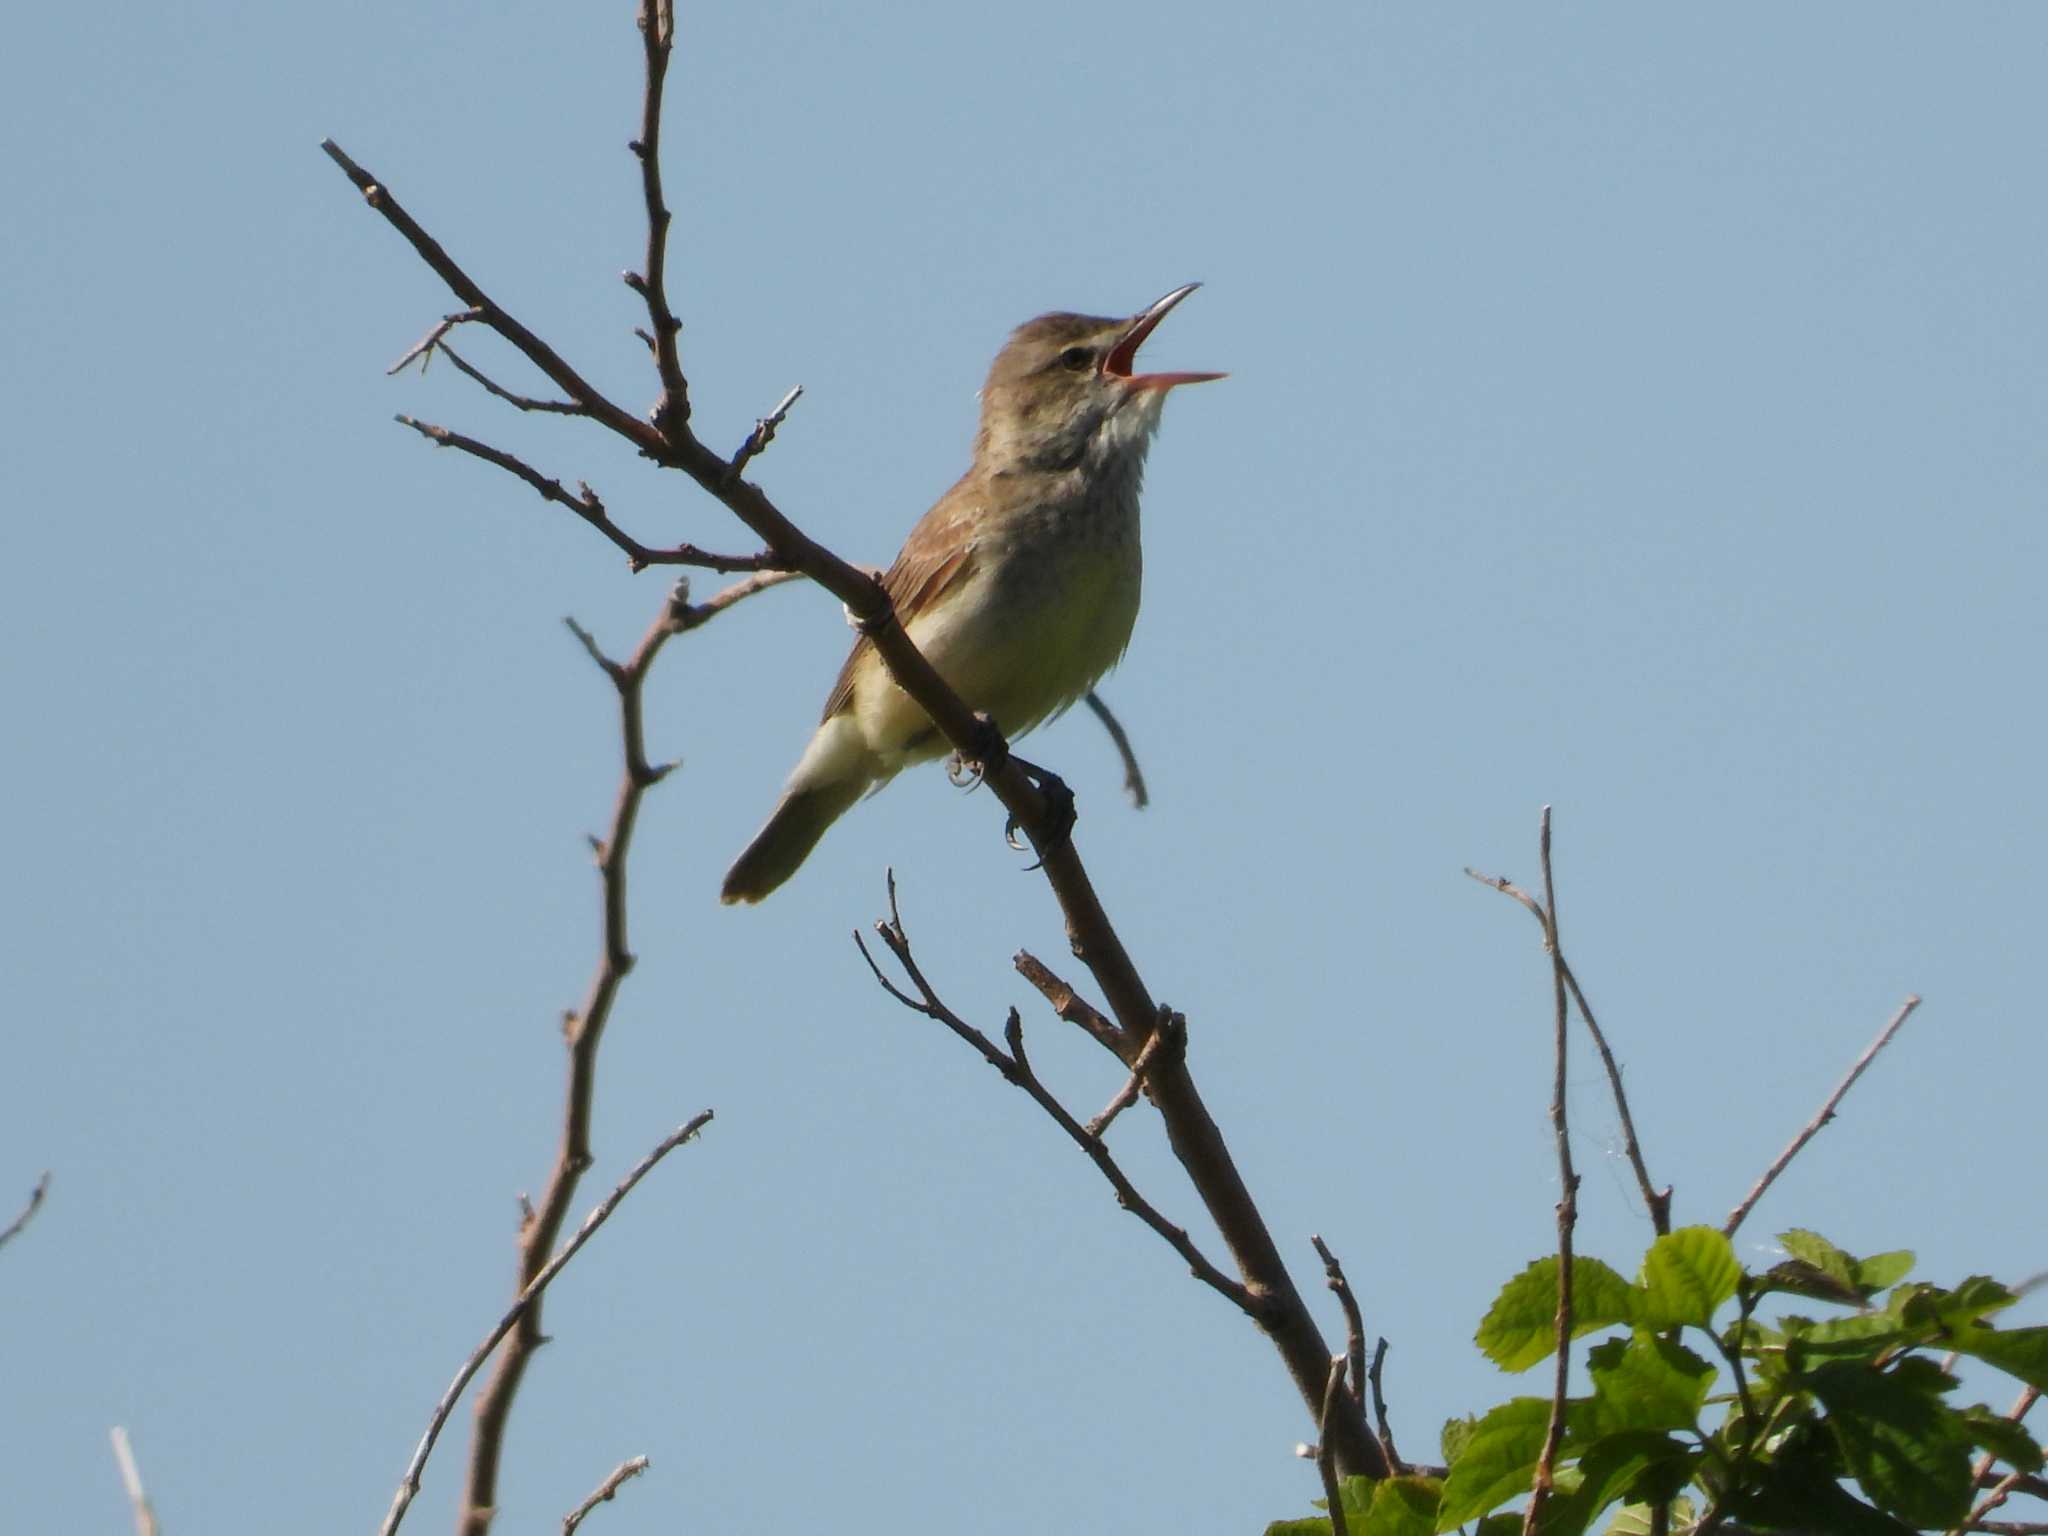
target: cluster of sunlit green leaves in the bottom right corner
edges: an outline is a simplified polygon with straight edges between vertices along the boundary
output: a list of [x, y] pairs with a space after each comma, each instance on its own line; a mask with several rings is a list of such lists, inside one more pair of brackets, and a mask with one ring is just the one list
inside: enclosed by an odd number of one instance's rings
[[[1987, 1466], [2036, 1473], [2042, 1448], [2013, 1417], [1954, 1401], [1950, 1356], [1970, 1356], [2048, 1391], [2048, 1327], [1999, 1329], [2015, 1300], [1985, 1276], [1948, 1290], [1909, 1282], [1913, 1253], [1853, 1257], [1810, 1231], [1780, 1237], [1786, 1260], [1745, 1272], [1712, 1227], [1651, 1243], [1634, 1280], [1573, 1260], [1571, 1335], [1591, 1391], [1563, 1405], [1544, 1536], [1575, 1536], [1616, 1509], [1610, 1534], [1655, 1528], [1901, 1536], [1968, 1522]], [[1509, 1280], [1479, 1325], [1481, 1352], [1528, 1370], [1556, 1348], [1559, 1262]], [[1759, 1311], [1821, 1303], [1831, 1315]], [[1720, 1325], [1716, 1327], [1716, 1317]], [[1343, 1485], [1346, 1526], [1430, 1536], [1479, 1522], [1524, 1528], [1503, 1505], [1530, 1493], [1550, 1423], [1546, 1397], [1516, 1397], [1444, 1425], [1448, 1477]], [[1268, 1536], [1323, 1536], [1327, 1513]]]

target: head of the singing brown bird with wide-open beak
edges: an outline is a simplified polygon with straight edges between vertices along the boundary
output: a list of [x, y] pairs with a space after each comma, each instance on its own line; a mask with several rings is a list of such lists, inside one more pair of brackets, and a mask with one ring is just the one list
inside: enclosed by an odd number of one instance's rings
[[1221, 373], [1137, 373], [1137, 352], [1188, 283], [1137, 315], [1038, 315], [1010, 334], [981, 387], [975, 457], [993, 469], [1077, 469], [1137, 451], [1174, 385]]

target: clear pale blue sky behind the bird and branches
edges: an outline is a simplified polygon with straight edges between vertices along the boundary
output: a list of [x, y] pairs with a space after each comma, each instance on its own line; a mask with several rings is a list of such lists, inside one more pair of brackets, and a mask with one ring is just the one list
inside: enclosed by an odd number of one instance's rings
[[[1104, 686], [1155, 803], [1081, 715], [1030, 756], [1296, 1278], [1321, 1231], [1393, 1339], [1417, 1454], [1528, 1391], [1470, 1333], [1550, 1243], [1548, 989], [1460, 866], [1534, 879], [1544, 803], [1679, 1221], [1919, 991], [1745, 1257], [1806, 1225], [1933, 1278], [2048, 1264], [2015, 1217], [2048, 1065], [2044, 45], [2028, 6], [682, 16], [698, 428], [733, 446], [803, 383], [756, 477], [846, 557], [887, 561], [965, 467], [1014, 324], [1204, 281], [1147, 358], [1231, 379], [1167, 408]], [[664, 580], [391, 416], [590, 479], [649, 543], [745, 539], [592, 430], [385, 379], [453, 303], [315, 145], [641, 406], [637, 72], [627, 6], [14, 25], [0, 1202], [53, 1169], [0, 1253], [23, 1530], [125, 1518], [111, 1423], [168, 1530], [369, 1528], [508, 1294], [616, 774], [559, 621], [625, 649]], [[989, 797], [905, 776], [770, 903], [717, 905], [844, 645], [786, 588], [649, 688], [684, 766], [635, 848], [584, 1204], [719, 1118], [553, 1292], [502, 1528], [629, 1454], [618, 1528], [1303, 1509], [1266, 1343], [848, 942], [895, 866], [954, 1008], [1020, 1006], [1100, 1108], [1118, 1075], [1010, 973], [1065, 946]], [[1632, 1268], [1583, 1059], [1573, 1112], [1581, 1243]], [[1206, 1237], [1155, 1124], [1116, 1149]]]

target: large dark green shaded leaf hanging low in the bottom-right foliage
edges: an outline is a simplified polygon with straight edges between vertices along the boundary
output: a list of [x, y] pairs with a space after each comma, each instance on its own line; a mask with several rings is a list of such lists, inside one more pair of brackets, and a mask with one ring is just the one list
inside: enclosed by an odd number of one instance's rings
[[1946, 1530], [1970, 1511], [1970, 1438], [1939, 1401], [1952, 1378], [1931, 1360], [1909, 1364], [1884, 1372], [1837, 1360], [1808, 1380], [1864, 1493], [1907, 1524]]

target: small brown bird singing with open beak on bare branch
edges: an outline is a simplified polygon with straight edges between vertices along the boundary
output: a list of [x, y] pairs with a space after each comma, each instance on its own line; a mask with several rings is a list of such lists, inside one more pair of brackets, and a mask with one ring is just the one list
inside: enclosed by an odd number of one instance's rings
[[[1010, 737], [1087, 694], [1139, 616], [1139, 489], [1171, 389], [1221, 373], [1137, 373], [1188, 283], [1137, 315], [1047, 313], [1018, 326], [981, 387], [973, 463], [883, 575], [897, 621], [956, 694]], [[946, 739], [854, 641], [809, 748], [719, 899], [754, 903], [854, 801]]]

